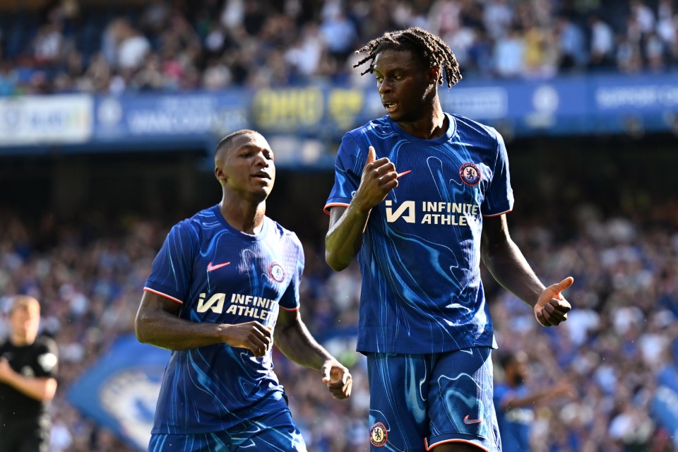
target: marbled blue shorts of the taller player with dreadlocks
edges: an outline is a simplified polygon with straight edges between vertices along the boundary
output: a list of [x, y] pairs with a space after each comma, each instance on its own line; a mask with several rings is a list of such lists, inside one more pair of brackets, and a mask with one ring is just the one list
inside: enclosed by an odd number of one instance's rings
[[431, 355], [369, 353], [371, 451], [422, 452], [446, 442], [501, 452], [492, 349]]

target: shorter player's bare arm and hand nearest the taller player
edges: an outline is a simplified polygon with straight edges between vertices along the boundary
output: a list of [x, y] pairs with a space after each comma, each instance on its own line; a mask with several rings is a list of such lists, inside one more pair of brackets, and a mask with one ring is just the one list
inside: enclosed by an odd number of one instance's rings
[[351, 395], [353, 380], [350, 372], [316, 342], [299, 315], [299, 311], [280, 309], [275, 324], [275, 346], [297, 364], [320, 371], [323, 383], [334, 398]]

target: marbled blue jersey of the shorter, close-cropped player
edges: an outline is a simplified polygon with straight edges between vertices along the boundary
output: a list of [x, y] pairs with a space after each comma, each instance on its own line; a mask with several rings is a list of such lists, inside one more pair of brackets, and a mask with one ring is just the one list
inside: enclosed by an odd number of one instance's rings
[[[258, 234], [231, 227], [218, 206], [172, 227], [144, 290], [181, 303], [192, 322], [275, 326], [298, 309], [304, 253], [297, 236], [264, 218]], [[227, 344], [175, 350], [160, 389], [152, 433], [198, 434], [287, 408], [271, 353]]]

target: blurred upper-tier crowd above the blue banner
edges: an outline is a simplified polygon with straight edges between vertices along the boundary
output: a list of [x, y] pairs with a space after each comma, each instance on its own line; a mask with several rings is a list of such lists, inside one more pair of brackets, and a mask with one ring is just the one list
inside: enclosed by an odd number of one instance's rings
[[410, 25], [443, 37], [468, 78], [678, 69], [675, 0], [53, 0], [40, 13], [5, 9], [0, 95], [355, 83], [357, 45]]

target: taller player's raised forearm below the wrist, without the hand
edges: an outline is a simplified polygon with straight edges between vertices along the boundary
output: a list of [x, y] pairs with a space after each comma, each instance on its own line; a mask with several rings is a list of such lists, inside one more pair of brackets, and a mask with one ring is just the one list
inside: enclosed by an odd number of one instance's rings
[[358, 254], [368, 219], [369, 210], [353, 203], [343, 210], [338, 220], [333, 222], [331, 217], [331, 227], [325, 237], [325, 261], [333, 270], [343, 270]]

